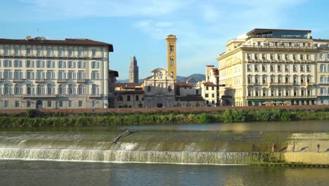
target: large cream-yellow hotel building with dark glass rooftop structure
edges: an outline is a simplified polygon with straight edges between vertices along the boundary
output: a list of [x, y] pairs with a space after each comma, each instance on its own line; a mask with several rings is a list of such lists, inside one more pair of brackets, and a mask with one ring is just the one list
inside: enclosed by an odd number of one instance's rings
[[316, 54], [311, 30], [254, 29], [231, 39], [217, 58], [221, 105], [316, 104]]

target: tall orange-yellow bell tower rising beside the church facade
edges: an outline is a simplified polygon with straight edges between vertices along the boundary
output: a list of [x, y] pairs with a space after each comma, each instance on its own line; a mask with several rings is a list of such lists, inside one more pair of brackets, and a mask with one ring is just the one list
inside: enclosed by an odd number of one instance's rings
[[168, 35], [167, 42], [167, 70], [168, 76], [176, 82], [176, 35]]

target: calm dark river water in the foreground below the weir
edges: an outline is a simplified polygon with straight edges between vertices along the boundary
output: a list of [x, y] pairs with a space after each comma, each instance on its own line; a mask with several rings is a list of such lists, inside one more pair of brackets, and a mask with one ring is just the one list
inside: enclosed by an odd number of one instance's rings
[[0, 161], [0, 185], [328, 185], [328, 168]]

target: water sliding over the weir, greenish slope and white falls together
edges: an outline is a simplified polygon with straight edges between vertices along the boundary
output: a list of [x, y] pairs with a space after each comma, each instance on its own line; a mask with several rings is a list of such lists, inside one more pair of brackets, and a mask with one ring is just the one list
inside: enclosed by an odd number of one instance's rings
[[[228, 152], [226, 142], [209, 135], [177, 141], [168, 135], [131, 135], [113, 144], [117, 134], [0, 134], [0, 159], [134, 163], [252, 164], [278, 162], [280, 154]], [[149, 137], [148, 140], [143, 140]], [[142, 139], [142, 140], [141, 140]], [[185, 139], [185, 140], [184, 140]], [[188, 139], [188, 140], [186, 140]], [[209, 139], [209, 140], [207, 140]]]

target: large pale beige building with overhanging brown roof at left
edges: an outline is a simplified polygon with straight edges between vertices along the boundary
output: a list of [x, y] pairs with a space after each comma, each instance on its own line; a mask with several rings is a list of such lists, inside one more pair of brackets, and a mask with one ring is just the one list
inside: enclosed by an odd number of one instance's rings
[[108, 108], [112, 44], [0, 39], [0, 109]]

